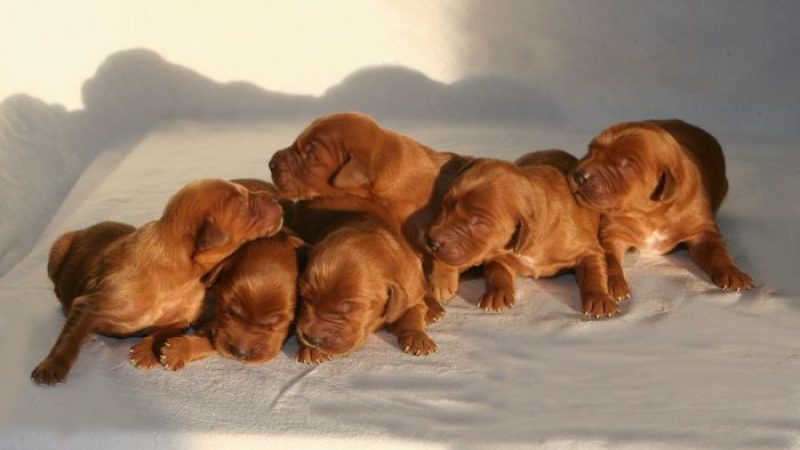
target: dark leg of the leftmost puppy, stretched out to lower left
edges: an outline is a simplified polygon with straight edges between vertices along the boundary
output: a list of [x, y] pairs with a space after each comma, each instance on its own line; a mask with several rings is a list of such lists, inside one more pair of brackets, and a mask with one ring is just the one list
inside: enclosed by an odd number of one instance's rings
[[78, 297], [72, 302], [67, 322], [50, 354], [33, 369], [31, 378], [38, 384], [62, 383], [78, 358], [81, 345], [94, 332], [94, 297]]

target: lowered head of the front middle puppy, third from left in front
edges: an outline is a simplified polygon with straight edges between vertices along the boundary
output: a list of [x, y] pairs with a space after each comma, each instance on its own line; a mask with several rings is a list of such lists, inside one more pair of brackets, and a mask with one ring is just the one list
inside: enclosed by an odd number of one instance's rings
[[323, 353], [345, 355], [422, 301], [422, 267], [386, 230], [348, 227], [312, 249], [299, 290], [298, 339]]

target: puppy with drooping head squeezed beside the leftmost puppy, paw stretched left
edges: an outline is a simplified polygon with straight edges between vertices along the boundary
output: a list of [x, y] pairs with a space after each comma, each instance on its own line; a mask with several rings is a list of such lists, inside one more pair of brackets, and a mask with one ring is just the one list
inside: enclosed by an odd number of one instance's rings
[[280, 352], [294, 320], [297, 248], [302, 240], [284, 228], [239, 248], [207, 277], [210, 319], [195, 335], [170, 338], [161, 363], [172, 370], [214, 353], [258, 364]]

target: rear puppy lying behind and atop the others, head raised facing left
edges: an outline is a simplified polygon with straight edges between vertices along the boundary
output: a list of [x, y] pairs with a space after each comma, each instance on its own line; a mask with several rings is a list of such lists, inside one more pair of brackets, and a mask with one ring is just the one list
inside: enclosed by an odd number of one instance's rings
[[[350, 194], [380, 205], [424, 255], [433, 212], [469, 159], [434, 151], [364, 114], [342, 113], [316, 119], [291, 146], [275, 153], [269, 167], [272, 180], [289, 198]], [[432, 298], [448, 300], [456, 294], [458, 273], [452, 267], [434, 264], [426, 274]]]

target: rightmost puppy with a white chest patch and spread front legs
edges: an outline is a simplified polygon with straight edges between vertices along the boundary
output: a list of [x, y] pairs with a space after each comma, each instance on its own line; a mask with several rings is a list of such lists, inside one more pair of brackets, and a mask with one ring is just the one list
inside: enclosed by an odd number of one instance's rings
[[630, 297], [622, 259], [630, 248], [664, 254], [678, 244], [717, 286], [749, 289], [714, 220], [728, 191], [725, 158], [713, 136], [680, 120], [614, 125], [589, 145], [570, 177], [578, 201], [603, 214], [609, 290]]

